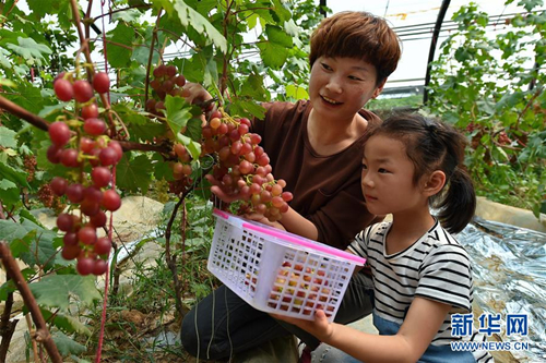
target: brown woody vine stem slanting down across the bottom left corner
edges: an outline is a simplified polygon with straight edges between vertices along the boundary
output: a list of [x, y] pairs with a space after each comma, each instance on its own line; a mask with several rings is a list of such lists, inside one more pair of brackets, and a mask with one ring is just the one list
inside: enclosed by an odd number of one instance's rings
[[31, 289], [28, 288], [28, 285], [23, 277], [23, 274], [21, 274], [21, 269], [19, 268], [17, 263], [11, 254], [10, 246], [4, 241], [0, 242], [0, 257], [2, 259], [5, 271], [10, 274], [13, 282], [15, 283], [15, 287], [21, 292], [23, 301], [28, 307], [34, 324], [36, 325], [36, 334], [34, 335], [33, 339], [36, 339], [36, 341], [44, 343], [44, 347], [46, 348], [47, 353], [49, 354], [49, 358], [54, 363], [61, 363], [62, 358], [57, 350], [57, 346], [55, 344], [51, 335], [49, 334], [49, 329], [47, 328], [46, 320], [44, 319], [44, 316], [39, 311], [36, 299], [34, 299], [34, 295], [32, 294]]

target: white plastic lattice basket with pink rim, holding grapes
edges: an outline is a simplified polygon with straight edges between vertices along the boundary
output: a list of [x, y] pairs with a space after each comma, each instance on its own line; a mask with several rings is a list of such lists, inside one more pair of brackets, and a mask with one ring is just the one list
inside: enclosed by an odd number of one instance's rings
[[269, 226], [214, 210], [209, 270], [253, 307], [333, 320], [356, 265], [366, 259]]

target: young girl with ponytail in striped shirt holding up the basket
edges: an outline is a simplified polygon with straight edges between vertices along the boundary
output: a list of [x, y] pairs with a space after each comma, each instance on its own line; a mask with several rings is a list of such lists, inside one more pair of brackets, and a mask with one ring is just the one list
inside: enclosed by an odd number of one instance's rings
[[370, 213], [393, 218], [358, 233], [348, 251], [371, 267], [373, 325], [380, 335], [329, 324], [322, 311], [314, 322], [275, 316], [337, 348], [324, 351], [327, 358], [336, 354], [329, 362], [492, 361], [487, 352], [450, 346], [460, 339], [451, 336], [451, 315], [472, 312], [473, 301], [468, 255], [451, 235], [476, 207], [462, 165], [464, 146], [452, 126], [418, 114], [389, 118], [370, 133], [363, 193]]

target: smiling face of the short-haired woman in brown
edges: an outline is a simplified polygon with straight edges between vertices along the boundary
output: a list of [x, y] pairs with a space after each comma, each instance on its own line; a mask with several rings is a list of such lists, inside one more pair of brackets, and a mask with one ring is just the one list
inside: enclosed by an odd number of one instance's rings
[[319, 57], [311, 69], [309, 98], [313, 112], [332, 120], [349, 120], [379, 96], [376, 68], [354, 58]]

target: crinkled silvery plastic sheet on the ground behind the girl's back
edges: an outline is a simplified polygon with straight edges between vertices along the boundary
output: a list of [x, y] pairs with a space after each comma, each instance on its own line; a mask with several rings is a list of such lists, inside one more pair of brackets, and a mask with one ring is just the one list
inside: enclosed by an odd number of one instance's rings
[[458, 240], [473, 261], [474, 300], [484, 313], [505, 323], [507, 314], [527, 314], [529, 336], [498, 336], [529, 343], [511, 351], [521, 362], [546, 362], [546, 234], [476, 218]]

